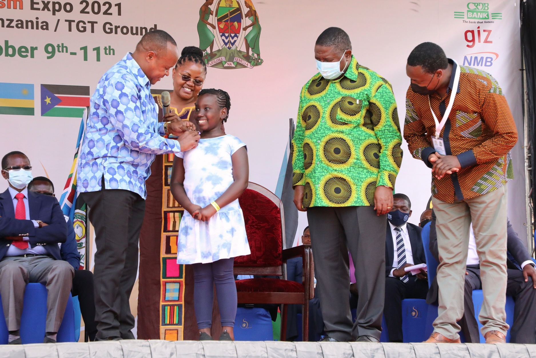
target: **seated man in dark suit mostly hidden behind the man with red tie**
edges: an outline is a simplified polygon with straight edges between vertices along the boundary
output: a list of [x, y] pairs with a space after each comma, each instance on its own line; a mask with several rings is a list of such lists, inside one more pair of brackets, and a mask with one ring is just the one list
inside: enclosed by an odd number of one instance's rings
[[[54, 196], [54, 184], [46, 177], [35, 177], [29, 184], [28, 190], [33, 193]], [[80, 199], [78, 199], [80, 200]], [[68, 235], [64, 244], [59, 244], [62, 260], [69, 262], [75, 269], [75, 277], [72, 279], [71, 294], [78, 296], [80, 312], [84, 318], [85, 331], [90, 341], [95, 340], [97, 325], [95, 323], [95, 294], [93, 291], [93, 272], [80, 268], [80, 254], [76, 242], [75, 229], [69, 216], [65, 216]]]

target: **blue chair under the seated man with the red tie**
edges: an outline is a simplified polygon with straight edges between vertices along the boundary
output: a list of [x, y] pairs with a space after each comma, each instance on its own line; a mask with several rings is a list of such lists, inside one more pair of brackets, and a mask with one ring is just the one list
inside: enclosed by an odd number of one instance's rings
[[[28, 283], [24, 292], [24, 308], [20, 319], [20, 338], [23, 344], [42, 343], [47, 322], [47, 288], [41, 283]], [[2, 306], [0, 301], [0, 307]], [[3, 309], [1, 311], [3, 316]], [[8, 343], [8, 327], [0, 319], [0, 344]], [[58, 342], [75, 342], [75, 312], [69, 294], [63, 321], [57, 334]]]

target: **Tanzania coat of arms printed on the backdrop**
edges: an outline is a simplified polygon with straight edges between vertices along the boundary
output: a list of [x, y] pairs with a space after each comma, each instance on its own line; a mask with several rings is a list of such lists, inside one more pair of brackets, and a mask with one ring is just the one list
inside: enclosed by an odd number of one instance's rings
[[251, 0], [206, 0], [199, 9], [197, 33], [208, 67], [253, 68], [263, 63], [259, 16]]

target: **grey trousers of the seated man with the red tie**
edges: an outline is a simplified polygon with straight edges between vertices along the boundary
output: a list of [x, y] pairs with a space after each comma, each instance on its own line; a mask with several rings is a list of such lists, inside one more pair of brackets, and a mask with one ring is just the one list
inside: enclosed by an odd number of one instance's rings
[[69, 262], [50, 256], [5, 257], [0, 261], [0, 295], [8, 331], [20, 328], [24, 291], [27, 283], [47, 287], [46, 332], [58, 332], [69, 299], [75, 270]]

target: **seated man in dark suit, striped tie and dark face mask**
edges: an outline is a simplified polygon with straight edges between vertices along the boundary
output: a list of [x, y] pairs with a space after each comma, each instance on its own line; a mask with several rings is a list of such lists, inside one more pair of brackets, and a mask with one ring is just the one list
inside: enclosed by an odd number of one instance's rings
[[393, 194], [393, 207], [387, 213], [385, 238], [385, 305], [383, 316], [390, 342], [402, 342], [402, 300], [426, 298], [428, 281], [425, 271], [406, 273], [405, 267], [426, 264], [421, 228], [407, 222], [411, 201], [404, 194]]

